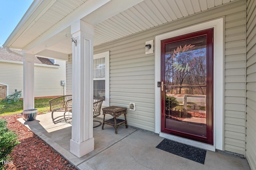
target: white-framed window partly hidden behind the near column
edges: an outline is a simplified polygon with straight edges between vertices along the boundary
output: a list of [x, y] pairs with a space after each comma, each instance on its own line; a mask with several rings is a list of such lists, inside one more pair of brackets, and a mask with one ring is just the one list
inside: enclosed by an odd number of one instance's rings
[[109, 51], [93, 55], [93, 96], [104, 98], [109, 106]]

